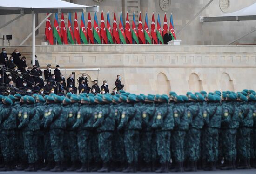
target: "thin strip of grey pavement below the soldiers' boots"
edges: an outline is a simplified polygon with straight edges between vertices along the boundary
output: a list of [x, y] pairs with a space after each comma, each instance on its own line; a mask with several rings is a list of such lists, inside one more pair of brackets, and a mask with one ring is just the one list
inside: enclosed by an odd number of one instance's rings
[[[67, 174], [80, 174], [77, 172], [64, 172]], [[97, 172], [91, 172], [92, 174], [102, 174], [102, 173], [97, 173]], [[111, 172], [115, 174], [124, 174], [122, 172]], [[20, 172], [20, 171], [12, 171], [12, 172], [0, 172], [0, 174], [63, 174], [63, 172]], [[129, 173], [131, 174], [131, 173]], [[151, 173], [151, 172], [137, 172], [136, 174], [156, 174], [156, 173]], [[178, 173], [177, 173], [178, 174]], [[252, 170], [229, 170], [229, 171], [212, 171], [212, 172], [206, 172], [206, 171], [198, 171], [198, 172], [183, 172], [182, 174], [256, 174], [256, 169]]]

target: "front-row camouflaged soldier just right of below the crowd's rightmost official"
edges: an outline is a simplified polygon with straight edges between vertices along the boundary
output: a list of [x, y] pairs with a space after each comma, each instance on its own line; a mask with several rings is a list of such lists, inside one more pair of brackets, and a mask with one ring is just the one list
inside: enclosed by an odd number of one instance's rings
[[127, 97], [128, 105], [126, 111], [122, 112], [121, 122], [118, 130], [124, 130], [124, 146], [128, 162], [128, 167], [123, 172], [135, 172], [138, 162], [139, 149], [139, 131], [141, 130], [141, 115], [137, 114], [134, 107], [136, 97], [134, 94], [129, 94]]

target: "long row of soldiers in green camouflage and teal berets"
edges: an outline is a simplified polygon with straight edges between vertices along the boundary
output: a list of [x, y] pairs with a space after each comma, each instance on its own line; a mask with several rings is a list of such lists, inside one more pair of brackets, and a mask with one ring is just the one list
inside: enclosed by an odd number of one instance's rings
[[252, 90], [0, 96], [0, 170], [256, 167], [255, 96]]

